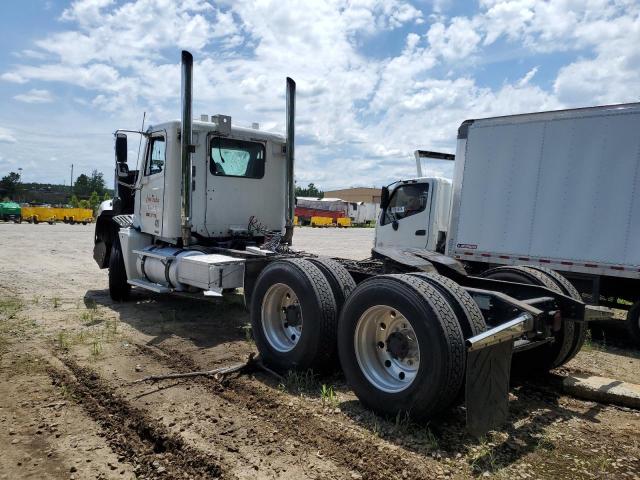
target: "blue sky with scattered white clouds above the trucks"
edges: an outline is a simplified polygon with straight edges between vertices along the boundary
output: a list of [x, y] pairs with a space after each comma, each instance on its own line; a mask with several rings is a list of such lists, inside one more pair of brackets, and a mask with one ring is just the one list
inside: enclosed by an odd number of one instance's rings
[[[633, 0], [30, 0], [0, 10], [0, 176], [112, 181], [116, 128], [194, 113], [284, 131], [298, 83], [297, 181], [380, 186], [466, 118], [640, 101]], [[429, 173], [450, 174], [434, 164]]]

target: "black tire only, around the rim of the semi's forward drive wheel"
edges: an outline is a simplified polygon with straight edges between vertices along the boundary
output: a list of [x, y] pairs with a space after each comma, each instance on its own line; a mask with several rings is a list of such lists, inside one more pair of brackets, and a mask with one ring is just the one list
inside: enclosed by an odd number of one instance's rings
[[[266, 295], [271, 287], [283, 284], [298, 299], [302, 329], [297, 343], [290, 349], [278, 348], [269, 333]], [[263, 307], [265, 312], [263, 313]], [[323, 372], [337, 364], [337, 308], [331, 285], [322, 271], [305, 259], [277, 260], [267, 265], [256, 280], [251, 296], [251, 326], [253, 338], [269, 366], [280, 370]], [[284, 320], [282, 320], [284, 323]], [[278, 319], [274, 319], [277, 323]], [[265, 329], [269, 329], [266, 332]]]

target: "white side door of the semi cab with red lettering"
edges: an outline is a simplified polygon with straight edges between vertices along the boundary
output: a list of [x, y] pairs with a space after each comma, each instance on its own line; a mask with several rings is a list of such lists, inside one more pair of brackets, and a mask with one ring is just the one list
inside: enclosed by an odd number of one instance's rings
[[140, 229], [151, 235], [162, 235], [166, 152], [165, 132], [153, 133], [147, 144], [139, 194]]

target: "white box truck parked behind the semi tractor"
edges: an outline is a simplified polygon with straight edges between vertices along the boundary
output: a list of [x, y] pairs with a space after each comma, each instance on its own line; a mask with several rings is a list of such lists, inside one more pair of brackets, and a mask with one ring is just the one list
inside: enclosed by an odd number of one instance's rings
[[[374, 253], [436, 250], [515, 282], [554, 269], [576, 298], [627, 310], [640, 345], [638, 132], [640, 103], [468, 120], [455, 156], [416, 151], [418, 178], [383, 189]], [[423, 159], [455, 159], [453, 184]]]

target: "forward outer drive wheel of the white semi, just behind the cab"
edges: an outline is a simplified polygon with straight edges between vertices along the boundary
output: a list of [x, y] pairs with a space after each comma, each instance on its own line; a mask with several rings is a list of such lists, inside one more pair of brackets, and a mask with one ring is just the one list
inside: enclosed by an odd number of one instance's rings
[[308, 260], [277, 260], [256, 280], [253, 337], [263, 361], [278, 370], [335, 366], [337, 317], [329, 281]]

